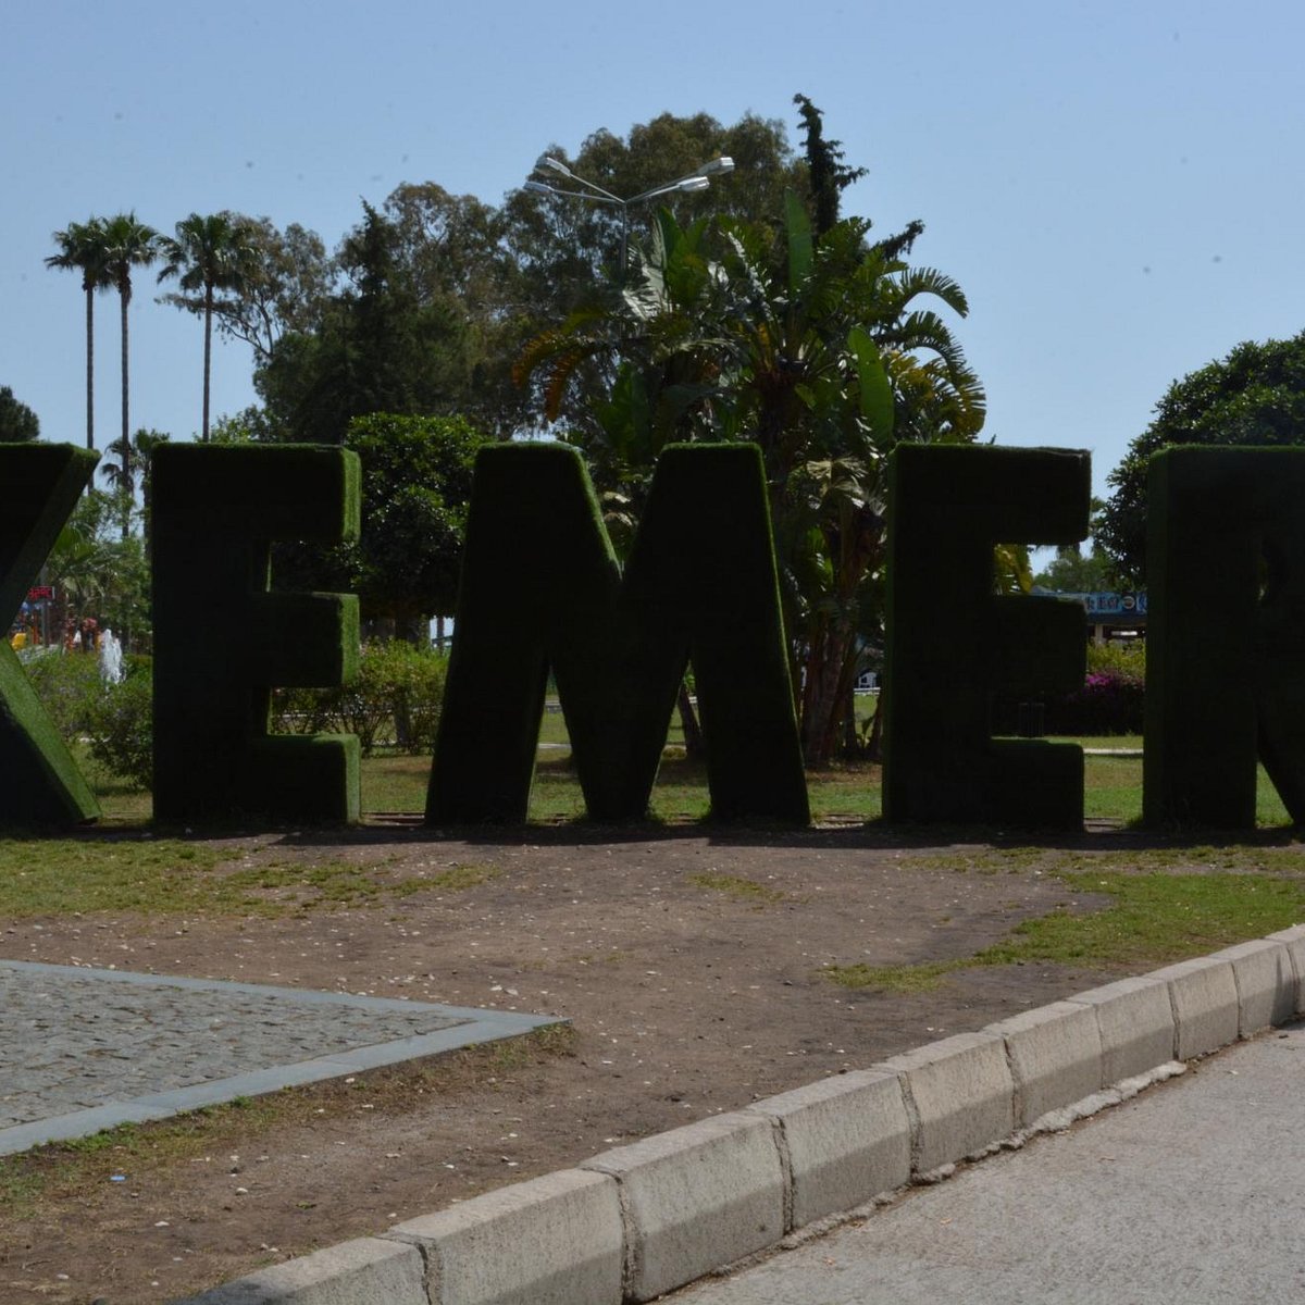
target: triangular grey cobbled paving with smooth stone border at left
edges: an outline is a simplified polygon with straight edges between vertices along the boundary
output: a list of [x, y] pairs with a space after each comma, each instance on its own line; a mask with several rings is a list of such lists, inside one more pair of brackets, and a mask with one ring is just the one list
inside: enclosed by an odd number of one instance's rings
[[551, 1022], [429, 1002], [0, 960], [0, 1155]]

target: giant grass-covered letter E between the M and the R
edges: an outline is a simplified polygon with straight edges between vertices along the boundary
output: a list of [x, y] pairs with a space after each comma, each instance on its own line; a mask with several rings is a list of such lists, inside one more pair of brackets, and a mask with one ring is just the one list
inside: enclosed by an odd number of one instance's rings
[[1088, 455], [899, 445], [890, 476], [883, 814], [1081, 826], [1082, 749], [994, 741], [990, 711], [1083, 684], [1083, 609], [997, 596], [993, 547], [1082, 539]]

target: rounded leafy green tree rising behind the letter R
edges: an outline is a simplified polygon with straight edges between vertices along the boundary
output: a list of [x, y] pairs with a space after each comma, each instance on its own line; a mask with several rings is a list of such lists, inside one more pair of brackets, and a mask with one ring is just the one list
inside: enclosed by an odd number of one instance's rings
[[1098, 539], [1120, 576], [1146, 583], [1146, 482], [1152, 453], [1173, 444], [1305, 444], [1305, 331], [1246, 341], [1227, 358], [1174, 381], [1151, 424], [1111, 472]]

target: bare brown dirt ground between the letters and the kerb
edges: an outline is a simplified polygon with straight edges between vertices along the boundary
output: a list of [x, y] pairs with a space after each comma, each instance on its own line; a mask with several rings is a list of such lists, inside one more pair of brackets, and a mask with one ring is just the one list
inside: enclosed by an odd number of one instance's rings
[[[968, 957], [1021, 920], [1095, 904], [1074, 903], [1027, 853], [996, 869], [989, 855], [979, 872], [975, 847], [860, 826], [523, 837], [372, 827], [230, 839], [234, 861], [371, 867], [380, 891], [270, 917], [0, 921], [10, 959], [570, 1021], [569, 1032], [213, 1112], [157, 1147], [145, 1126], [127, 1156], [56, 1148], [35, 1194], [20, 1184], [0, 1212], [0, 1298], [175, 1300], [1113, 977], [1006, 966], [890, 993], [822, 975], [829, 963]], [[463, 868], [453, 886], [419, 882], [453, 868]], [[125, 1182], [108, 1181], [123, 1171]]]

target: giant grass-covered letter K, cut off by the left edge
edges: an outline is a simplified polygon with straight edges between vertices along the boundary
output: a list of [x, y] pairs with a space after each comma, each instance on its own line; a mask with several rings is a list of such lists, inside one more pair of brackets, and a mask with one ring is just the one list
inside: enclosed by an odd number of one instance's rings
[[[98, 458], [70, 444], [0, 445], [0, 612], [14, 619]], [[57, 655], [57, 654], [52, 654]], [[27, 676], [0, 639], [0, 821], [85, 821], [99, 816]]]

